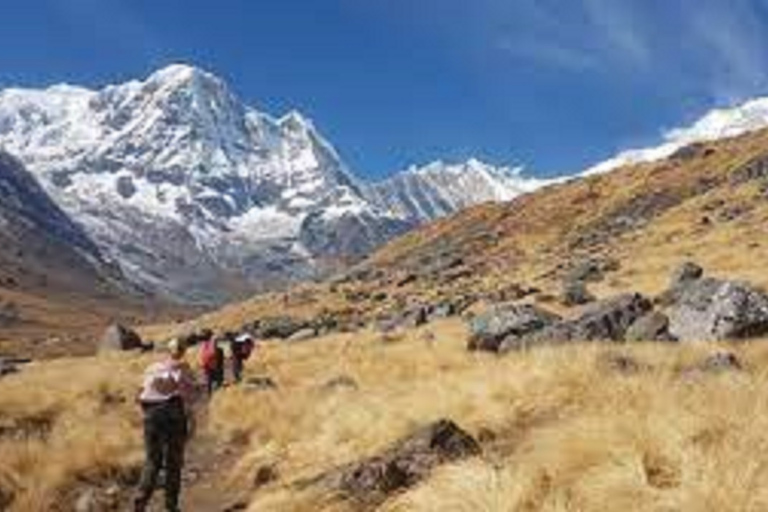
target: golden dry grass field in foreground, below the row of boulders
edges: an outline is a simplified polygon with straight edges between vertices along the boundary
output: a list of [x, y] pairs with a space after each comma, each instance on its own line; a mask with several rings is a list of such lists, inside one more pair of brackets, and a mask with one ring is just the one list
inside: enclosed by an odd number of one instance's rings
[[[463, 325], [445, 321], [387, 339], [266, 344], [248, 377], [277, 387], [229, 387], [206, 406], [185, 510], [359, 510], [298, 482], [440, 418], [478, 439], [482, 454], [438, 468], [379, 510], [768, 509], [768, 343], [502, 357], [465, 343]], [[690, 369], [720, 350], [743, 369]], [[633, 363], [613, 364], [616, 354]], [[133, 395], [147, 357], [40, 362], [0, 380], [0, 509], [74, 510], [88, 493], [106, 510], [124, 503], [142, 457]]]

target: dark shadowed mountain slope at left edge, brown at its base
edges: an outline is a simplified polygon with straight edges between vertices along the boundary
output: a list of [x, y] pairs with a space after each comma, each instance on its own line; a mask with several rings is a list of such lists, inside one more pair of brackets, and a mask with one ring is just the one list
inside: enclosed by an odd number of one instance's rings
[[[0, 152], [0, 356], [83, 353], [115, 318], [142, 317], [129, 287], [22, 164]], [[142, 313], [144, 312], [144, 313]]]

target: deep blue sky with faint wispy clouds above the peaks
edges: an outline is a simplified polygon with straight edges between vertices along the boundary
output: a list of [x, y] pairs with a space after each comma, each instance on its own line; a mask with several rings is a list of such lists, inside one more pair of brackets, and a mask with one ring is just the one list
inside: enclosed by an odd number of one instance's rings
[[768, 92], [766, 0], [5, 0], [0, 28], [0, 86], [192, 63], [369, 176], [573, 172]]

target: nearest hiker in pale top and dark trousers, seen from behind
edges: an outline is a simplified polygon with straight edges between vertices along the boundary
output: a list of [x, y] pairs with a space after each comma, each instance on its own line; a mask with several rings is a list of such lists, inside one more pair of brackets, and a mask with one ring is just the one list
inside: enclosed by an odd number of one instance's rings
[[150, 365], [144, 374], [138, 400], [144, 412], [146, 461], [134, 502], [136, 512], [147, 509], [161, 469], [165, 469], [166, 510], [180, 510], [184, 446], [194, 428], [192, 405], [197, 394], [195, 376], [184, 360], [185, 353], [182, 341], [171, 341], [165, 358]]

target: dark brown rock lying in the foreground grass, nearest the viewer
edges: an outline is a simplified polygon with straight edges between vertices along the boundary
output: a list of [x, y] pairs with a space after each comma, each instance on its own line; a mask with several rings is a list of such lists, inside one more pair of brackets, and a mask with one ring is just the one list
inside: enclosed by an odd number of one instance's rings
[[453, 421], [443, 419], [378, 455], [322, 475], [318, 481], [347, 498], [375, 505], [424, 480], [441, 464], [479, 454], [480, 445], [472, 436]]

